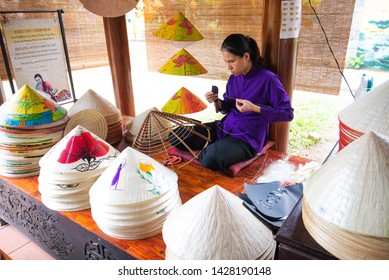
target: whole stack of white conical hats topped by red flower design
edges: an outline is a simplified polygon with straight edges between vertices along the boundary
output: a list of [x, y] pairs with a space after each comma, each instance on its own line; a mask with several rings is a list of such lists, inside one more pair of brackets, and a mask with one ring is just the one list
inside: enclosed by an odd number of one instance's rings
[[56, 211], [90, 208], [89, 189], [119, 151], [77, 126], [39, 161], [42, 202]]

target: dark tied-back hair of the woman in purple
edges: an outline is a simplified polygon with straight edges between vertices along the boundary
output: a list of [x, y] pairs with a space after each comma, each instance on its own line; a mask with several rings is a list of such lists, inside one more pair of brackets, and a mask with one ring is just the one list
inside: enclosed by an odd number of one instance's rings
[[251, 61], [254, 64], [260, 67], [266, 67], [266, 61], [261, 56], [257, 42], [249, 36], [243, 34], [228, 35], [224, 39], [221, 49], [239, 57], [243, 57], [247, 52], [250, 54]]

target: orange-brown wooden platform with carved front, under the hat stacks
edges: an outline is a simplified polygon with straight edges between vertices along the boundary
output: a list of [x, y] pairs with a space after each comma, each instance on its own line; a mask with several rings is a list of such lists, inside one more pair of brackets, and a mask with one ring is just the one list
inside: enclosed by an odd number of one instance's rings
[[[121, 151], [127, 146], [122, 140], [116, 148]], [[268, 151], [234, 178], [193, 163], [187, 164], [175, 170], [182, 202], [214, 185], [237, 195], [238, 191], [244, 190], [245, 178], [255, 176], [267, 164], [283, 156], [285, 154]], [[164, 158], [155, 159], [162, 162]], [[296, 165], [308, 161], [305, 158], [291, 158]], [[165, 258], [162, 234], [140, 240], [121, 240], [102, 232], [94, 222], [90, 209], [58, 212], [47, 208], [41, 201], [37, 176], [21, 179], [0, 176], [0, 219], [15, 226], [56, 259]]]

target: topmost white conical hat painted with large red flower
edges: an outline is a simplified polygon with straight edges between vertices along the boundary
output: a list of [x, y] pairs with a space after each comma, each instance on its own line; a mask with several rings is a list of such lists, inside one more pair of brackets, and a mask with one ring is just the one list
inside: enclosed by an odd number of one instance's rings
[[42, 169], [73, 177], [102, 172], [119, 151], [82, 126], [75, 127], [39, 161]]

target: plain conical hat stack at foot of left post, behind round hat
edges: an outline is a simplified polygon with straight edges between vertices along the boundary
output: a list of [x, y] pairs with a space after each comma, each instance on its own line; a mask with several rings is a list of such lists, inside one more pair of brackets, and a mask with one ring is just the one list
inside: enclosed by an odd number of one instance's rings
[[[106, 125], [108, 126], [106, 138], [103, 138], [103, 140], [107, 143], [114, 144], [123, 138], [123, 125], [120, 110], [101, 95], [89, 89], [69, 109], [69, 117], [73, 118], [83, 110], [95, 110], [103, 115], [106, 120]], [[93, 116], [93, 114], [91, 116]], [[82, 117], [80, 119], [84, 118], [85, 117]]]

